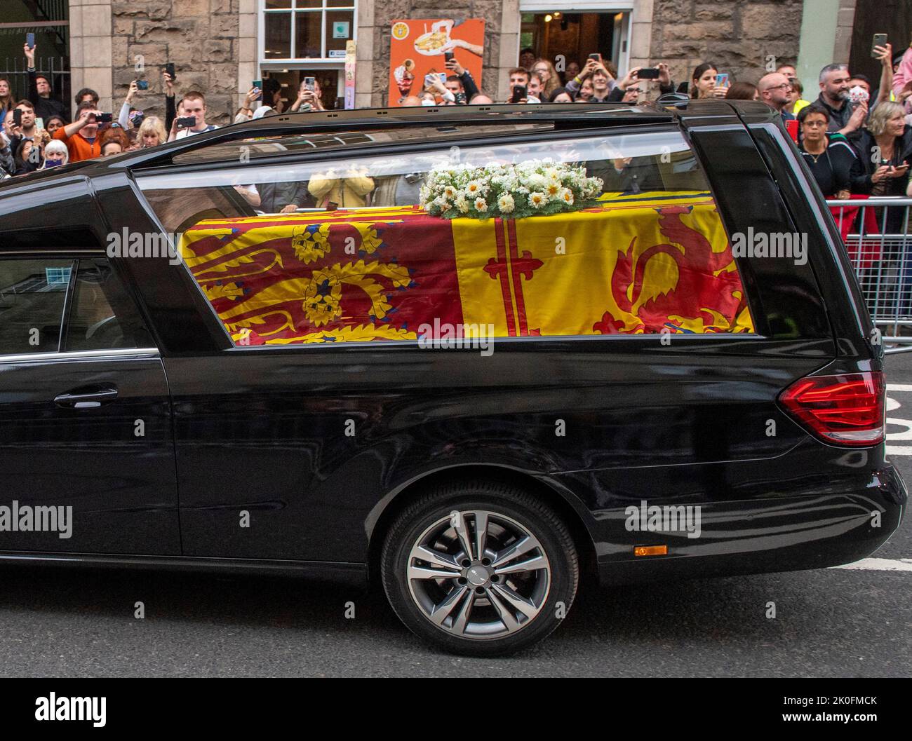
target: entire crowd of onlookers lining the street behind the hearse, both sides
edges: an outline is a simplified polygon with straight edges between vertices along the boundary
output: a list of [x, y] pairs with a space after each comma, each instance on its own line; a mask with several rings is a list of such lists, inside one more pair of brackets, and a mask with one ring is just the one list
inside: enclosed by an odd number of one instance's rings
[[[912, 195], [908, 164], [912, 158], [912, 44], [893, 57], [892, 46], [876, 46], [881, 76], [876, 89], [848, 67], [832, 64], [820, 72], [820, 93], [813, 101], [803, 98], [803, 87], [793, 65], [782, 65], [756, 82], [734, 80], [712, 62], [695, 67], [689, 81], [676, 85], [668, 65], [634, 67], [623, 77], [598, 54], [581, 65], [566, 61], [558, 68], [549, 59], [523, 49], [520, 64], [509, 71], [509, 98], [504, 103], [627, 103], [669, 93], [689, 98], [759, 100], [790, 123], [799, 149], [814, 178], [830, 198], [850, 194]], [[165, 91], [165, 117], [146, 116], [134, 102], [149, 95], [148, 82], [133, 80], [117, 118], [98, 108], [98, 93], [89, 88], [75, 97], [76, 114], [67, 116], [67, 105], [56, 98], [51, 80], [35, 68], [36, 48], [24, 46], [28, 95], [16, 99], [10, 82], [0, 77], [0, 175], [10, 177], [47, 170], [67, 162], [108, 157], [130, 149], [156, 147], [216, 127], [206, 119], [206, 99], [190, 90], [180, 99], [174, 79], [161, 71]], [[419, 96], [403, 98], [403, 106], [458, 106], [493, 103], [462, 67], [458, 55], [446, 61], [445, 79], [429, 76]], [[653, 87], [654, 86], [654, 87]], [[287, 105], [275, 79], [264, 79], [263, 88], [252, 87], [234, 115], [234, 122], [277, 113], [323, 110], [321, 90], [314, 77], [306, 77]], [[795, 130], [796, 129], [796, 130]], [[354, 198], [354, 197], [353, 197]], [[357, 200], [357, 199], [355, 199]]]

